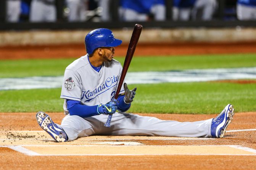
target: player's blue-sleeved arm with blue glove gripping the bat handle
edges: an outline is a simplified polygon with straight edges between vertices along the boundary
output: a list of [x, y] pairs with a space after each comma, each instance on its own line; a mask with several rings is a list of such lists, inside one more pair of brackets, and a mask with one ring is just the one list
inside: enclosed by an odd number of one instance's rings
[[117, 109], [116, 101], [108, 102], [105, 105], [100, 104], [95, 106], [82, 105], [79, 101], [69, 99], [66, 99], [66, 102], [69, 114], [80, 116], [82, 118], [99, 114], [113, 114]]

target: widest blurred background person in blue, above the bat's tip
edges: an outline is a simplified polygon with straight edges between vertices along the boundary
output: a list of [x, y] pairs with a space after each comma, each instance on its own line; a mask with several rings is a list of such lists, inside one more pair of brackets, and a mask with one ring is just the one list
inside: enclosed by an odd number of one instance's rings
[[123, 21], [148, 21], [153, 14], [156, 21], [165, 19], [164, 0], [121, 0]]

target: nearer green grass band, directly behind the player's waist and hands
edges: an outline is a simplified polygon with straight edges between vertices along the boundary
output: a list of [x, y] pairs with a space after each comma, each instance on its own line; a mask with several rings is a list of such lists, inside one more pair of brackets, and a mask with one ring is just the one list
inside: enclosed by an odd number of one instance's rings
[[[137, 86], [131, 113], [219, 113], [228, 104], [236, 112], [256, 110], [256, 84], [163, 83]], [[0, 91], [0, 112], [63, 112], [61, 89]]]

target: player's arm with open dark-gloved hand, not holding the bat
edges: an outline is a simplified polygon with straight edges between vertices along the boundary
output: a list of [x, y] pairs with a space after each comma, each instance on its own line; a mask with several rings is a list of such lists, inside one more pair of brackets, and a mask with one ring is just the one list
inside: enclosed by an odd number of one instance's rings
[[119, 94], [117, 99], [117, 106], [119, 111], [125, 112], [130, 108], [131, 103], [135, 97], [136, 90], [137, 90], [137, 87], [135, 87], [132, 90], [129, 90], [127, 87], [127, 84], [124, 83], [124, 93]]

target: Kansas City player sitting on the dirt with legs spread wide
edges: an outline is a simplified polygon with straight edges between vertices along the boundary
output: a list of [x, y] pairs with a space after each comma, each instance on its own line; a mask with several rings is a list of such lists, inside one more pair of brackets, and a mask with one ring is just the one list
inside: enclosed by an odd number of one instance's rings
[[[39, 111], [36, 119], [54, 140], [72, 141], [90, 135], [150, 135], [165, 137], [223, 137], [233, 116], [228, 104], [214, 119], [196, 122], [164, 121], [154, 117], [125, 113], [133, 102], [136, 87], [123, 83], [114, 99], [122, 66], [114, 60], [116, 46], [122, 43], [109, 29], [95, 29], [85, 37], [87, 54], [65, 70], [61, 89], [64, 113], [61, 125]], [[116, 112], [116, 111], [119, 112]], [[111, 127], [105, 127], [113, 114]]]

